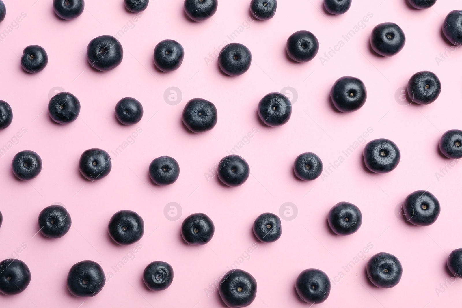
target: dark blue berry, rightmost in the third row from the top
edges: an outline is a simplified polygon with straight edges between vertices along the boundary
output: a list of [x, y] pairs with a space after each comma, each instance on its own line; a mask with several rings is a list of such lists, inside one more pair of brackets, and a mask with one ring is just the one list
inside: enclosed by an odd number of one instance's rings
[[428, 71], [415, 73], [407, 83], [407, 93], [413, 97], [413, 102], [419, 105], [433, 103], [441, 92], [441, 82], [438, 77]]

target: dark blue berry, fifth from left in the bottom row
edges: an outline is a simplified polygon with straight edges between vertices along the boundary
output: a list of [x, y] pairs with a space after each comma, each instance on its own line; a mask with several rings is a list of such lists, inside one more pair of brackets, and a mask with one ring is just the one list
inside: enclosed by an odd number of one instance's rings
[[305, 302], [318, 304], [329, 297], [330, 281], [325, 272], [310, 268], [298, 275], [295, 290]]

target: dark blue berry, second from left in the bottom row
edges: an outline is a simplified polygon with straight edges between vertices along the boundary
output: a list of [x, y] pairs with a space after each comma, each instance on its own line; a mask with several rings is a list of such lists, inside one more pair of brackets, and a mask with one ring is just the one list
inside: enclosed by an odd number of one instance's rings
[[92, 297], [103, 290], [106, 278], [103, 269], [94, 261], [74, 264], [67, 274], [67, 289], [73, 296]]

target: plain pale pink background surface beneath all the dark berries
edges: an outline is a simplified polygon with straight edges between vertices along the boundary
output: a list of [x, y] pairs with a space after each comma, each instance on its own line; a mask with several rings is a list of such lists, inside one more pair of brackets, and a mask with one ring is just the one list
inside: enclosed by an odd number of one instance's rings
[[[294, 282], [299, 272], [313, 267], [332, 280], [331, 294], [319, 307], [431, 308], [460, 302], [462, 282], [446, 282], [451, 276], [445, 263], [453, 249], [462, 247], [462, 167], [453, 162], [448, 168], [451, 160], [438, 152], [441, 134], [461, 128], [462, 55], [460, 50], [448, 53], [451, 45], [441, 34], [443, 18], [461, 9], [459, 1], [438, 0], [419, 11], [405, 0], [353, 0], [342, 16], [325, 13], [322, 0], [280, 1], [273, 19], [251, 23], [249, 0], [220, 0], [217, 13], [202, 23], [184, 16], [182, 0], [152, 1], [136, 22], [122, 0], [87, 0], [84, 13], [69, 22], [55, 17], [51, 0], [4, 1], [7, 15], [0, 30], [9, 33], [0, 42], [0, 99], [10, 103], [14, 117], [0, 132], [0, 146], [11, 146], [0, 157], [0, 259], [19, 257], [32, 280], [22, 294], [0, 296], [1, 307], [223, 307], [209, 284], [236, 261], [257, 280], [255, 308], [310, 306], [299, 300]], [[21, 15], [27, 16], [14, 23]], [[367, 22], [359, 23], [368, 15]], [[371, 52], [369, 36], [376, 24], [388, 21], [401, 26], [407, 42], [396, 56], [382, 58]], [[122, 64], [107, 73], [93, 70], [85, 58], [88, 42], [119, 30]], [[216, 60], [205, 58], [223, 41], [231, 42], [227, 36], [235, 30], [234, 42], [246, 45], [254, 61], [248, 72], [230, 78]], [[286, 39], [297, 30], [310, 30], [320, 42], [318, 55], [308, 63], [286, 57]], [[342, 36], [349, 30], [358, 31], [346, 42]], [[167, 38], [185, 49], [182, 66], [168, 74], [158, 72], [152, 61], [155, 45]], [[344, 46], [335, 47], [340, 40]], [[22, 50], [31, 44], [49, 55], [48, 66], [36, 75], [19, 65]], [[330, 59], [324, 56], [329, 48], [338, 50]], [[328, 61], [322, 63], [321, 56]], [[397, 103], [400, 88], [421, 70], [441, 80], [438, 100], [428, 106]], [[345, 75], [362, 79], [369, 94], [365, 106], [351, 114], [334, 111], [328, 101], [330, 87]], [[171, 86], [182, 92], [176, 105], [164, 100]], [[258, 101], [286, 86], [298, 93], [292, 118], [282, 127], [265, 127], [257, 117]], [[70, 125], [57, 125], [47, 114], [54, 87], [81, 102], [79, 119]], [[120, 125], [114, 115], [116, 102], [126, 96], [144, 106], [144, 118], [134, 126]], [[182, 126], [183, 106], [195, 97], [218, 109], [211, 133], [193, 134]], [[12, 139], [21, 130], [22, 137]], [[245, 138], [249, 132], [252, 137]], [[391, 139], [401, 150], [401, 163], [389, 174], [371, 174], [363, 167], [364, 144], [377, 138]], [[123, 151], [116, 156], [111, 151], [120, 145]], [[351, 145], [355, 150], [346, 156], [342, 151]], [[235, 146], [251, 176], [241, 187], [229, 188], [207, 174]], [[79, 174], [80, 154], [91, 147], [113, 158], [110, 175], [101, 181], [86, 181]], [[11, 171], [12, 157], [22, 150], [36, 151], [43, 159], [42, 173], [30, 182], [18, 181]], [[316, 181], [299, 181], [292, 164], [306, 151], [319, 155], [326, 171], [331, 164], [335, 168]], [[162, 155], [174, 157], [181, 168], [169, 187], [153, 184], [147, 171], [152, 159]], [[417, 189], [428, 189], [441, 203], [437, 222], [426, 228], [395, 215]], [[328, 229], [327, 213], [339, 201], [352, 202], [363, 213], [354, 235], [335, 236]], [[53, 202], [65, 204], [73, 220], [67, 235], [56, 240], [35, 235], [38, 213]], [[176, 221], [164, 217], [170, 202], [182, 207]], [[283, 220], [277, 242], [255, 244], [254, 219], [266, 211], [279, 214], [285, 202], [297, 206], [298, 216]], [[130, 247], [114, 244], [107, 233], [109, 218], [123, 209], [138, 212], [146, 225], [145, 236]], [[215, 224], [207, 246], [182, 241], [182, 219], [195, 212], [206, 213]], [[245, 253], [248, 248], [252, 253]], [[394, 254], [403, 266], [400, 284], [389, 290], [372, 286], [365, 274], [367, 260], [382, 251]], [[81, 260], [97, 261], [110, 277], [94, 298], [67, 291], [67, 272]], [[174, 269], [167, 290], [152, 292], [142, 282], [142, 271], [154, 260]], [[123, 266], [116, 272], [113, 267], [120, 261]], [[351, 261], [354, 266], [346, 272], [343, 266]]]

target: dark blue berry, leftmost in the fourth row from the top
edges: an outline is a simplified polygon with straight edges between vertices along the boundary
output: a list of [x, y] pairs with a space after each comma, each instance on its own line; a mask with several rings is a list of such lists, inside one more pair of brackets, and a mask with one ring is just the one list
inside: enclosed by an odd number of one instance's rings
[[13, 157], [11, 168], [19, 180], [32, 180], [42, 171], [42, 158], [34, 151], [21, 151]]

